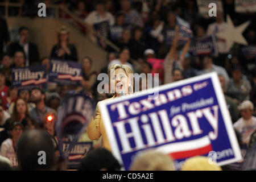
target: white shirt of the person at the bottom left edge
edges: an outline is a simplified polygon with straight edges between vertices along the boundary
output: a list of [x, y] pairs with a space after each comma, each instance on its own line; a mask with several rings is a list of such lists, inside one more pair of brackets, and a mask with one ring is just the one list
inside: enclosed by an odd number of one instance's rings
[[3, 141], [1, 145], [0, 155], [8, 158], [11, 162], [11, 166], [18, 166], [18, 159], [13, 147], [13, 140], [10, 138]]

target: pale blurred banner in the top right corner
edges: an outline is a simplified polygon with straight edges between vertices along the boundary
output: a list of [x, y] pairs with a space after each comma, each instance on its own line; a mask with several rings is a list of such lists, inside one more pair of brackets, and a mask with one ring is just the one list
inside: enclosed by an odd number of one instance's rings
[[235, 11], [237, 13], [255, 13], [256, 0], [235, 0]]

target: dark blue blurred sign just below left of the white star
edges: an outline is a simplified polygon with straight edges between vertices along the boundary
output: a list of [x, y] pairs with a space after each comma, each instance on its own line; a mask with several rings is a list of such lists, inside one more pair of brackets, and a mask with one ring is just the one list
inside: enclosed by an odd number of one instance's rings
[[189, 52], [193, 56], [198, 56], [198, 55], [218, 56], [216, 36], [206, 35], [202, 37], [192, 38]]

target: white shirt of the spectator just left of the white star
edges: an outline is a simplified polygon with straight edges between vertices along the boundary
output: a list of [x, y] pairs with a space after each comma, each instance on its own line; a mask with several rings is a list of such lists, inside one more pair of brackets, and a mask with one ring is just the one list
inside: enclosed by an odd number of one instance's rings
[[[225, 31], [226, 27], [227, 27], [226, 22], [209, 24], [207, 28], [207, 35], [213, 35], [213, 34], [216, 34], [217, 32], [223, 32]], [[218, 46], [218, 52], [220, 53], [229, 52], [229, 50], [226, 48], [225, 40], [217, 38], [217, 46]]]

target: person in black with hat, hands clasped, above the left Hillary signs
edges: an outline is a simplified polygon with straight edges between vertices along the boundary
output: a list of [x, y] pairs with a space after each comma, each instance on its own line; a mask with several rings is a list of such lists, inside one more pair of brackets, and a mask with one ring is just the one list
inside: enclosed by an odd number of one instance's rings
[[57, 38], [57, 44], [52, 47], [51, 59], [77, 61], [76, 47], [69, 43], [69, 31], [67, 27], [60, 27]]

